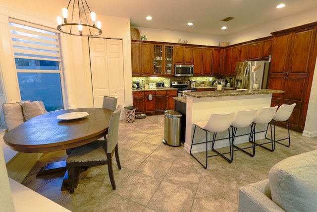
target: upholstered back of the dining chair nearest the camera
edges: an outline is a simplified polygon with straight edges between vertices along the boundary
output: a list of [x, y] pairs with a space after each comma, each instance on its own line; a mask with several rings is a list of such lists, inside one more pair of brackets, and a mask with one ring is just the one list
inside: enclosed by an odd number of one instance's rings
[[111, 153], [118, 143], [119, 121], [121, 114], [121, 105], [112, 113], [109, 121], [107, 136], [107, 153]]

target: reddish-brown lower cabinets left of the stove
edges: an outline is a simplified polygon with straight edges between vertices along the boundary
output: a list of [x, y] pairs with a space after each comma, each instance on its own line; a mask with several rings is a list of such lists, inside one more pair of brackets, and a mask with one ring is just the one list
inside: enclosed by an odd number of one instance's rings
[[133, 106], [136, 114], [158, 115], [174, 110], [177, 90], [134, 91]]

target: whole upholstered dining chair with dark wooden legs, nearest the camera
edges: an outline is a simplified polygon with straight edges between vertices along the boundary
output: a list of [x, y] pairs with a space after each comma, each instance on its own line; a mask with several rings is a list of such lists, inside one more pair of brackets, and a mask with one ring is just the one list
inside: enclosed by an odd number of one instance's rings
[[[118, 168], [121, 169], [118, 152], [118, 128], [121, 113], [121, 105], [112, 113], [109, 127], [108, 139], [97, 140], [91, 143], [76, 147], [66, 159], [66, 166], [68, 170], [69, 191], [74, 193], [74, 188], [77, 187], [74, 179], [79, 177], [75, 176], [75, 168], [88, 167], [93, 165], [108, 165], [108, 173], [112, 189], [116, 188], [112, 169], [112, 156], [115, 154]], [[79, 170], [80, 171], [80, 170]]]

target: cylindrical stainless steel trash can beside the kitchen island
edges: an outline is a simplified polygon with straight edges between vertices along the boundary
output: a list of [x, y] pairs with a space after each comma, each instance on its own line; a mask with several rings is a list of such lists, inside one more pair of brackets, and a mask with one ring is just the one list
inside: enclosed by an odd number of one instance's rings
[[164, 111], [163, 143], [170, 146], [180, 146], [180, 121], [182, 114], [173, 110]]

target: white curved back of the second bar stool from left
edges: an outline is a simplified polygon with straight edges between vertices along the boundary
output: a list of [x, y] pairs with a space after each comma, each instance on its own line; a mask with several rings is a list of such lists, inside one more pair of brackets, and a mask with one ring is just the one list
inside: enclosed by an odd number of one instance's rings
[[258, 108], [254, 110], [239, 110], [235, 115], [231, 126], [236, 128], [245, 128], [250, 126], [256, 117], [257, 112]]

